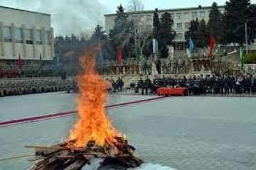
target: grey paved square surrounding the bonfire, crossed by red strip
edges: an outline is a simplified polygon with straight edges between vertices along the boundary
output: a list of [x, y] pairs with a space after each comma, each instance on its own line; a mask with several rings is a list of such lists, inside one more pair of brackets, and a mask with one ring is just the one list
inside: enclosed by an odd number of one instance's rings
[[[108, 104], [152, 96], [111, 95]], [[74, 94], [0, 98], [0, 121], [75, 110]], [[178, 170], [256, 169], [256, 98], [183, 97], [114, 108], [107, 113], [145, 162]], [[75, 115], [0, 128], [0, 159], [53, 145], [68, 136]], [[28, 169], [27, 159], [0, 169]]]

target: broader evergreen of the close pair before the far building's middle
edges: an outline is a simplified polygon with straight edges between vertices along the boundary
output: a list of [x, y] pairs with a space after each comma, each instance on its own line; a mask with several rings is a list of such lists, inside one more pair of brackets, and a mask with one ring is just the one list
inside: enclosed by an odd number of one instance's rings
[[159, 47], [161, 52], [161, 57], [168, 57], [168, 49], [167, 45], [171, 45], [175, 36], [176, 32], [173, 29], [174, 20], [171, 18], [170, 13], [164, 13], [161, 16], [161, 23], [159, 25], [159, 33], [158, 33], [158, 41]]

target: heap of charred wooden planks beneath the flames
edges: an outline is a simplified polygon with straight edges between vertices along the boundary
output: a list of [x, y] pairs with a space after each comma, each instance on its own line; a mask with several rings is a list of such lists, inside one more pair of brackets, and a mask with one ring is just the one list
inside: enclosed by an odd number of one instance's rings
[[128, 145], [127, 140], [122, 137], [115, 137], [117, 143], [115, 147], [118, 148], [117, 153], [113, 153], [113, 148], [110, 146], [100, 147], [95, 144], [95, 141], [90, 141], [84, 148], [70, 148], [68, 142], [55, 145], [53, 147], [32, 147], [26, 146], [30, 149], [35, 149], [35, 159], [37, 161], [31, 170], [43, 169], [63, 169], [76, 170], [82, 167], [89, 166], [92, 159], [100, 159], [100, 164], [97, 169], [104, 166], [120, 166], [124, 169], [136, 167], [142, 164], [142, 160], [137, 157], [135, 148]]

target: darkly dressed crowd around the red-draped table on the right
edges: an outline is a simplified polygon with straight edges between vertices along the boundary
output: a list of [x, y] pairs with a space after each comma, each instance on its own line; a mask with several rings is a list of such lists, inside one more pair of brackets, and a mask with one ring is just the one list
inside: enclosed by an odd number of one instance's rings
[[226, 75], [159, 77], [151, 81], [149, 77], [139, 79], [135, 92], [156, 94], [160, 87], [186, 87], [188, 95], [200, 94], [256, 94], [256, 75], [243, 74], [240, 77]]

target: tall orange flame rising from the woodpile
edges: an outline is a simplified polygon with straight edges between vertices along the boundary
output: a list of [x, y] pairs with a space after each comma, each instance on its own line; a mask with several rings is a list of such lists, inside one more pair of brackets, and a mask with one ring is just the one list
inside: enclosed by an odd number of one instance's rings
[[96, 145], [112, 145], [114, 137], [120, 133], [114, 129], [105, 112], [107, 101], [107, 82], [96, 74], [95, 54], [93, 51], [80, 58], [84, 73], [78, 77], [80, 96], [78, 98], [79, 118], [69, 141], [73, 147], [85, 147], [87, 142], [94, 140]]

